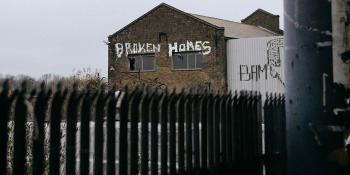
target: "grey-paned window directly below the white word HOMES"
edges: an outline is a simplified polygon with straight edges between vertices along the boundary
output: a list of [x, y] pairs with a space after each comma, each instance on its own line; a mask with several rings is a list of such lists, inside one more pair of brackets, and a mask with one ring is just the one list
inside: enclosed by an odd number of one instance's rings
[[202, 68], [201, 52], [174, 53], [172, 56], [174, 70], [195, 70]]

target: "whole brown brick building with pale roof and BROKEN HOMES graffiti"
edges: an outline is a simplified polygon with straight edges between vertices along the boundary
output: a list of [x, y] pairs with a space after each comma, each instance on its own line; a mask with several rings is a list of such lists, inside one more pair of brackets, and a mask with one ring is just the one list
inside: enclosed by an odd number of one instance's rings
[[162, 3], [108, 37], [108, 81], [226, 89], [226, 41], [281, 34], [279, 17], [261, 9], [238, 23]]

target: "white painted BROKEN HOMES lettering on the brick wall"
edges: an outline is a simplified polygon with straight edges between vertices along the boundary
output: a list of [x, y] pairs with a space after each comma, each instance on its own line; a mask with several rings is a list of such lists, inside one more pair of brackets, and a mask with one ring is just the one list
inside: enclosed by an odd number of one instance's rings
[[[187, 41], [186, 43], [169, 43], [168, 51], [169, 56], [172, 56], [173, 52], [186, 52], [186, 51], [201, 51], [203, 55], [208, 55], [211, 52], [211, 46], [209, 41]], [[115, 51], [118, 58], [123, 54], [141, 54], [141, 53], [159, 53], [161, 44], [153, 43], [116, 43]]]

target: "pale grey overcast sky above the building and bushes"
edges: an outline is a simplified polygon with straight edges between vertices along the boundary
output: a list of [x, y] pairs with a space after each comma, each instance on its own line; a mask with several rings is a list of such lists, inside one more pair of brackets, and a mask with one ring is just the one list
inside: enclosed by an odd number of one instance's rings
[[240, 21], [257, 8], [280, 15], [283, 0], [1, 0], [0, 74], [107, 76], [107, 36], [165, 2], [189, 13]]

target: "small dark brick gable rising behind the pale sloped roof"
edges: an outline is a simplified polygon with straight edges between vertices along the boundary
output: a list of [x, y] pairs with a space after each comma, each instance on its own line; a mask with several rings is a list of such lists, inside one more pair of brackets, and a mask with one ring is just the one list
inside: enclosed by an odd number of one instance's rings
[[277, 34], [282, 34], [279, 28], [279, 16], [271, 15], [261, 11], [257, 11], [248, 18], [242, 20], [242, 23], [261, 26], [268, 30], [271, 30]]

